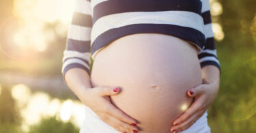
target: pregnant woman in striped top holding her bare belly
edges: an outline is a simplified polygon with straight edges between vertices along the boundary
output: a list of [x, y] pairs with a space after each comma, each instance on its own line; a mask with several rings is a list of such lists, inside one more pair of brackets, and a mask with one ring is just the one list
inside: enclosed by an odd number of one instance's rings
[[63, 54], [81, 133], [210, 132], [221, 69], [208, 0], [76, 0]]

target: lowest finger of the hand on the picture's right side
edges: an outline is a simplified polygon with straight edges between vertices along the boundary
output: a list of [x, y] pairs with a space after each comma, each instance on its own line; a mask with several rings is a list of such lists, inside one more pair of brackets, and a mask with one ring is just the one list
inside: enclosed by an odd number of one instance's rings
[[183, 121], [182, 123], [179, 123], [177, 125], [173, 125], [171, 127], [171, 132], [182, 132], [186, 129], [188, 129], [191, 125], [193, 125], [195, 122], [197, 121], [201, 115], [203, 115], [203, 111], [197, 112], [194, 115], [192, 115], [189, 119], [187, 119], [186, 121]]

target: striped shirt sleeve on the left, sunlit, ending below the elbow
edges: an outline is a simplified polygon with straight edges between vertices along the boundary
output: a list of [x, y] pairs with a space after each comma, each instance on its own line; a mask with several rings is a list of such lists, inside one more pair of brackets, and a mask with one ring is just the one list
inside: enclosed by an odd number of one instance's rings
[[75, 0], [66, 49], [63, 51], [62, 59], [61, 73], [65, 83], [65, 74], [72, 68], [81, 68], [88, 74], [90, 72], [91, 16], [90, 1]]

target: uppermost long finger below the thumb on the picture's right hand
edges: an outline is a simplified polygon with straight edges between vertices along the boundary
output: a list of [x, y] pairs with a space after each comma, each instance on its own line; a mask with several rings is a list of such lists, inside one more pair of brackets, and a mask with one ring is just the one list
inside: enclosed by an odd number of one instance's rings
[[195, 102], [193, 102], [192, 105], [178, 119], [173, 121], [173, 125], [177, 123], [182, 123], [183, 121], [185, 121], [186, 119], [188, 119], [189, 117], [197, 113], [199, 110], [201, 110], [202, 106], [203, 106], [203, 98], [199, 98], [195, 100]]

